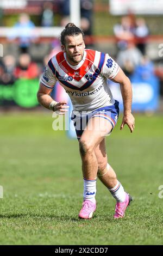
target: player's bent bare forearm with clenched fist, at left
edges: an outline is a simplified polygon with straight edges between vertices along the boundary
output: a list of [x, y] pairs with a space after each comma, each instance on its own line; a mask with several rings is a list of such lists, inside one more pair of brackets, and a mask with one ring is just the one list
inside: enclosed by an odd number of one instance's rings
[[[68, 106], [64, 106], [67, 104], [66, 101], [54, 101], [52, 97], [50, 96], [52, 92], [52, 89], [49, 89], [45, 86], [43, 86], [42, 83], [40, 83], [39, 91], [37, 92], [37, 100], [39, 103], [48, 109], [51, 109], [53, 111], [59, 111], [59, 114], [64, 114], [68, 108]], [[61, 113], [60, 113], [61, 112]]]

